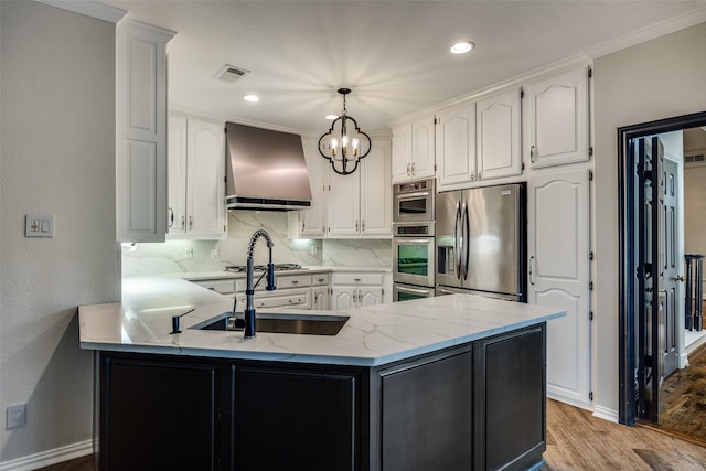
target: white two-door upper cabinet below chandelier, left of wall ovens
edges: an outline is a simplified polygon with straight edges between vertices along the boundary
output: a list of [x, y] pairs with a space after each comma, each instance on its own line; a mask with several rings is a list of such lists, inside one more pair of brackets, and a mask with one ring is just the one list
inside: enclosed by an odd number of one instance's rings
[[328, 237], [392, 237], [389, 147], [388, 140], [374, 140], [354, 173], [330, 171]]

